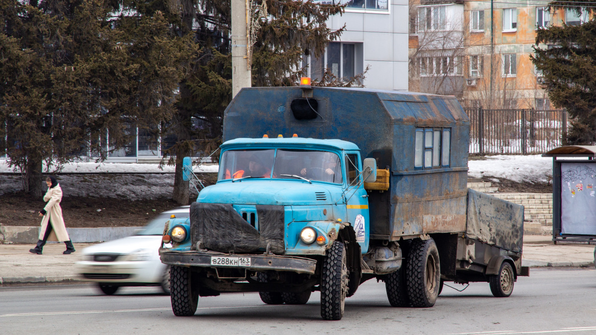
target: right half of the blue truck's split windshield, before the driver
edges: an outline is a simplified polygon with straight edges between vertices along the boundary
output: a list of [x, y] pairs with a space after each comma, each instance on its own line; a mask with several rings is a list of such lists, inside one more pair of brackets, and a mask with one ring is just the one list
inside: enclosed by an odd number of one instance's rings
[[315, 181], [343, 182], [339, 156], [328, 151], [278, 149], [273, 175], [273, 178], [296, 175]]

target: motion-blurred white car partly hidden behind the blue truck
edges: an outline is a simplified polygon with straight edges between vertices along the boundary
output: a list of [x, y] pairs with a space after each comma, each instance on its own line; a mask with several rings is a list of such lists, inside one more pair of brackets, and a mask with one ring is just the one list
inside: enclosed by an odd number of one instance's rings
[[97, 283], [105, 294], [122, 286], [161, 286], [170, 294], [169, 266], [159, 259], [163, 228], [168, 219], [188, 218], [190, 206], [160, 213], [135, 235], [86, 247], [76, 263], [85, 281]]

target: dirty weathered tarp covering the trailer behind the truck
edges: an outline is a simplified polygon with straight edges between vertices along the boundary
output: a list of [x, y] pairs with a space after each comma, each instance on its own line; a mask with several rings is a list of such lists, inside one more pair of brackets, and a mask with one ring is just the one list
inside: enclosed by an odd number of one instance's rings
[[465, 233], [491, 246], [521, 252], [523, 206], [468, 189]]

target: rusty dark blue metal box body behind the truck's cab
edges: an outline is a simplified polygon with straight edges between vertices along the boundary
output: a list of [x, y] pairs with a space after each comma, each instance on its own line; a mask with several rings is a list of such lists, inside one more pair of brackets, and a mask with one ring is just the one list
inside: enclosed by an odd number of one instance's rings
[[[224, 141], [296, 133], [353, 142], [362, 159], [374, 158], [379, 169], [390, 171], [390, 189], [369, 193], [371, 238], [465, 231], [470, 122], [455, 97], [313, 87], [308, 102], [316, 100], [318, 115], [300, 120], [292, 104], [306, 101], [304, 92], [300, 87], [242, 89], [226, 108]], [[439, 166], [415, 167], [417, 131], [448, 137], [446, 161], [440, 157]]]

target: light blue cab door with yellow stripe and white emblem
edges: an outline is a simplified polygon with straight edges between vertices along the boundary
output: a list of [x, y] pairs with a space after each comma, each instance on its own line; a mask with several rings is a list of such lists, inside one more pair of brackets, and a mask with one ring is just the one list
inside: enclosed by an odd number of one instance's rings
[[344, 154], [346, 169], [346, 197], [347, 222], [350, 222], [356, 232], [356, 241], [360, 244], [362, 253], [368, 252], [370, 236], [368, 220], [368, 195], [364, 190], [364, 179], [361, 175], [362, 162], [358, 152], [346, 151]]

